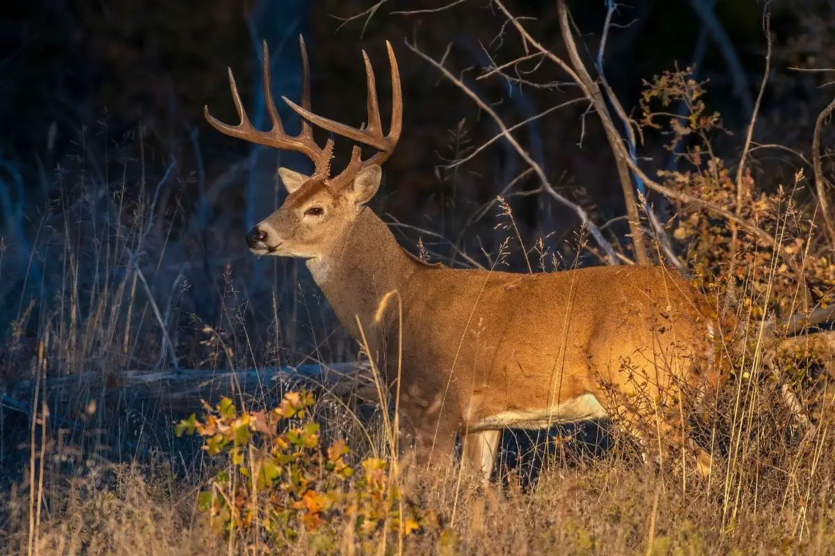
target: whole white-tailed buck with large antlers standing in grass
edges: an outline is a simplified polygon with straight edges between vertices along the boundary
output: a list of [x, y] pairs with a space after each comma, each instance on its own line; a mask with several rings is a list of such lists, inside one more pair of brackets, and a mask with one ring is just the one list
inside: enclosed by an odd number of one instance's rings
[[[387, 48], [393, 97], [387, 135], [364, 51], [368, 123], [362, 128], [311, 113], [303, 40], [301, 107], [284, 98], [302, 118], [297, 136], [278, 117], [266, 43], [271, 131], [252, 126], [230, 70], [240, 123], [220, 123], [206, 107], [209, 123], [230, 137], [304, 153], [315, 167], [311, 176], [279, 169], [289, 195], [247, 234], [252, 252], [305, 259], [342, 325], [357, 341], [364, 333], [369, 355], [392, 388], [400, 388], [422, 461], [448, 462], [461, 434], [463, 460], [489, 478], [502, 428], [611, 417], [644, 443], [646, 434], [660, 431], [672, 445], [688, 447], [699, 472], [708, 473], [711, 457], [684, 433], [681, 408], [668, 402], [718, 385], [712, 348], [718, 322], [706, 298], [678, 273], [646, 266], [539, 274], [447, 268], [412, 256], [367, 208], [402, 129], [397, 60]], [[333, 141], [317, 145], [311, 123], [378, 152], [363, 160], [355, 146], [347, 168], [331, 178]], [[391, 292], [402, 300], [402, 330], [397, 303], [375, 318]]]

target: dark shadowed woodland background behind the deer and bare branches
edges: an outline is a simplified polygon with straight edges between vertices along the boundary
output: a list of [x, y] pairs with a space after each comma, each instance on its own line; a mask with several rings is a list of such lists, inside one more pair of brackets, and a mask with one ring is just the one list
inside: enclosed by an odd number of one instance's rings
[[[700, 17], [695, 9], [700, 3], [711, 20]], [[229, 66], [251, 118], [263, 127], [261, 40], [271, 48], [275, 98], [297, 100], [300, 33], [311, 58], [313, 110], [355, 126], [365, 119], [362, 49], [377, 71], [387, 125], [391, 94], [385, 41], [391, 41], [402, 77], [403, 133], [372, 206], [389, 222], [425, 230], [395, 228], [413, 252], [420, 238], [430, 258], [466, 265], [450, 248], [452, 242], [479, 263], [488, 263], [483, 253], [493, 253], [504, 237], [494, 230], [501, 222], [498, 208], [477, 222], [472, 216], [525, 169], [524, 162], [498, 141], [463, 166], [444, 168], [497, 130], [471, 99], [409, 51], [404, 39], [435, 59], [449, 48], [445, 66], [509, 124], [579, 93], [570, 86], [519, 87], [497, 76], [477, 81], [489, 65], [488, 54], [504, 63], [522, 55], [523, 45], [512, 29], [502, 33], [504, 17], [488, 0], [439, 9], [445, 4], [391, 0], [372, 17], [351, 20], [346, 18], [372, 8], [374, 0], [30, 0], [8, 5], [0, 20], [3, 334], [20, 332], [12, 323], [21, 321], [30, 299], [38, 301], [23, 329], [36, 330], [48, 318], [55, 304], [44, 300], [63, 295], [66, 253], [75, 253], [79, 267], [89, 271], [79, 273], [78, 291], [93, 291], [94, 276], [101, 271], [94, 258], [85, 258], [85, 248], [98, 244], [101, 230], [106, 236], [114, 229], [114, 205], [119, 205], [127, 210], [126, 218], [153, 215], [144, 221], [150, 232], [141, 262], [159, 304], [170, 308], [172, 330], [178, 331], [176, 351], [184, 365], [200, 363], [194, 355], [199, 351], [195, 330], [200, 328], [195, 315], [223, 323], [230, 306], [238, 308], [240, 320], [225, 328], [253, 325], [247, 342], [256, 363], [299, 362], [309, 355], [347, 357], [353, 344], [333, 333], [335, 322], [306, 269], [292, 261], [256, 259], [243, 240], [248, 228], [281, 203], [277, 166], [306, 171], [306, 160], [253, 149], [215, 132], [203, 118], [208, 104], [217, 118], [236, 123], [226, 78]], [[644, 79], [676, 64], [685, 68], [696, 62], [697, 77], [709, 79], [706, 103], [722, 113], [726, 128], [734, 133], [716, 148], [736, 156], [765, 65], [765, 4], [712, 4], [622, 3], [614, 19], [619, 26], [608, 38], [605, 73], [629, 111], [637, 105]], [[554, 2], [508, 0], [505, 5], [518, 17], [535, 18], [525, 20], [529, 31], [565, 56]], [[605, 2], [569, 2], [569, 7], [582, 32], [580, 48], [596, 53]], [[781, 143], [808, 155], [817, 113], [831, 100], [831, 90], [822, 85], [833, 72], [798, 73], [789, 67], [835, 67], [833, 9], [832, 3], [813, 0], [771, 3], [772, 73], [757, 141]], [[423, 12], [397, 13], [407, 10]], [[716, 24], [721, 37], [711, 28]], [[737, 67], [729, 65], [729, 53]], [[554, 83], [565, 76], [543, 63], [529, 79]], [[297, 118], [280, 100], [278, 108], [295, 132]], [[594, 114], [584, 118], [585, 109], [585, 103], [571, 105], [516, 136], [554, 186], [603, 225], [625, 211], [600, 122]], [[824, 145], [829, 138], [825, 133]], [[650, 133], [640, 146], [641, 163], [650, 175], [674, 163], [662, 148], [664, 141]], [[337, 141], [337, 167], [346, 161], [348, 147]], [[779, 155], [770, 156], [755, 165], [768, 177], [758, 181], [762, 188], [785, 183], [797, 169]], [[529, 177], [514, 191], [537, 186]], [[526, 241], [551, 234], [554, 249], [573, 256], [578, 226], [573, 213], [541, 195], [512, 198], [511, 206]], [[607, 233], [628, 254], [624, 223], [613, 224]], [[114, 268], [127, 264], [111, 263]], [[584, 263], [600, 260], [586, 253]], [[521, 270], [523, 258], [514, 253], [509, 265]], [[84, 306], [83, 295], [78, 298], [79, 314], [93, 310], [92, 304]], [[147, 321], [145, 326], [153, 329]], [[271, 348], [265, 351], [265, 346]], [[261, 353], [268, 355], [262, 358]]]

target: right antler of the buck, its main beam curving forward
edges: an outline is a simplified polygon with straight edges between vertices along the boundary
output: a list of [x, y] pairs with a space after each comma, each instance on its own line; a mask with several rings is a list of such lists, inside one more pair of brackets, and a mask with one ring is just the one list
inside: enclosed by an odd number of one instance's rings
[[301, 118], [307, 120], [314, 125], [326, 129], [331, 133], [337, 133], [349, 139], [363, 143], [373, 148], [377, 148], [379, 153], [374, 154], [367, 160], [362, 160], [362, 148], [355, 146], [351, 152], [351, 161], [347, 167], [342, 170], [337, 177], [329, 180], [331, 187], [339, 189], [347, 186], [352, 182], [353, 178], [360, 173], [362, 169], [372, 166], [373, 164], [384, 163], [394, 151], [397, 146], [397, 140], [400, 138], [402, 131], [403, 119], [403, 97], [400, 88], [400, 73], [397, 68], [397, 58], [394, 56], [394, 50], [391, 43], [386, 41], [388, 49], [388, 62], [392, 66], [392, 125], [388, 131], [388, 135], [382, 134], [382, 122], [380, 121], [380, 107], [377, 104], [377, 83], [374, 79], [374, 70], [371, 66], [371, 61], [368, 55], [363, 50], [362, 58], [365, 60], [366, 78], [368, 88], [368, 125], [363, 128], [352, 128], [344, 123], [335, 122], [331, 119], [324, 118], [317, 114], [311, 113], [310, 107], [305, 106], [302, 100], [301, 106], [293, 103], [289, 98], [281, 97], [290, 108], [296, 111]]

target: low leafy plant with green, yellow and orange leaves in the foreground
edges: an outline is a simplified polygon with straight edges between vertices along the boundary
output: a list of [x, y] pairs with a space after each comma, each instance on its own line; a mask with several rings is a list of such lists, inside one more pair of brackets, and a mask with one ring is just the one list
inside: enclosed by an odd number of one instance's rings
[[199, 497], [213, 528], [274, 550], [309, 534], [317, 552], [332, 553], [346, 528], [368, 548], [388, 533], [435, 527], [435, 514], [405, 499], [385, 460], [355, 468], [343, 440], [322, 447], [314, 403], [311, 392], [290, 392], [270, 411], [240, 411], [223, 398], [214, 408], [204, 402], [204, 418], [176, 424], [177, 436], [200, 435], [205, 452], [226, 463]]

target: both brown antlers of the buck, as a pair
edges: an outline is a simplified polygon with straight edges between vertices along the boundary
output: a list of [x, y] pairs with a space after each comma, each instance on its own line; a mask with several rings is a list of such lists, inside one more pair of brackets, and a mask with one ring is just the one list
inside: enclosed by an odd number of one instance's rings
[[[284, 127], [281, 125], [281, 118], [278, 117], [276, 110], [276, 103], [272, 99], [272, 90], [270, 86], [270, 54], [267, 50], [266, 41], [264, 42], [264, 98], [266, 99], [267, 112], [270, 114], [272, 121], [272, 129], [269, 132], [262, 132], [253, 127], [249, 118], [246, 116], [243, 104], [240, 102], [240, 95], [238, 88], [235, 85], [235, 78], [232, 77], [232, 70], [229, 70], [229, 83], [232, 90], [232, 100], [235, 101], [235, 109], [240, 116], [240, 123], [236, 126], [222, 123], [215, 119], [209, 113], [209, 107], [205, 107], [205, 118], [209, 123], [220, 133], [225, 133], [230, 137], [244, 139], [250, 143], [264, 145], [265, 147], [282, 148], [286, 150], [298, 151], [305, 154], [313, 161], [316, 171], [313, 177], [324, 180], [334, 190], [343, 188], [352, 182], [353, 178], [357, 176], [364, 168], [372, 166], [373, 164], [384, 163], [391, 155], [397, 140], [400, 138], [402, 130], [403, 118], [403, 98], [400, 89], [400, 73], [397, 68], [397, 58], [394, 57], [394, 50], [391, 43], [386, 41], [388, 48], [388, 61], [392, 66], [392, 125], [389, 129], [388, 135], [382, 134], [382, 122], [380, 120], [380, 107], [377, 104], [377, 84], [374, 79], [374, 70], [371, 66], [371, 61], [368, 55], [363, 50], [362, 58], [365, 60], [366, 78], [368, 87], [368, 125], [360, 129], [352, 128], [344, 123], [335, 122], [331, 119], [324, 118], [311, 112], [311, 98], [310, 98], [310, 67], [307, 63], [307, 50], [305, 48], [304, 38], [299, 36], [299, 43], [301, 44], [301, 62], [302, 62], [302, 89], [301, 89], [301, 106], [292, 102], [289, 98], [281, 97], [290, 108], [296, 111], [301, 116], [301, 133], [296, 136], [287, 135]], [[309, 122], [309, 123], [308, 123]], [[311, 125], [314, 124], [322, 129], [326, 129], [331, 133], [342, 135], [349, 139], [353, 139], [358, 143], [369, 145], [377, 148], [379, 153], [374, 154], [367, 160], [362, 160], [362, 148], [355, 146], [351, 152], [351, 160], [347, 167], [342, 170], [337, 177], [328, 179], [331, 171], [331, 158], [333, 157], [333, 140], [328, 139], [325, 148], [319, 148], [313, 140], [313, 133]]]

